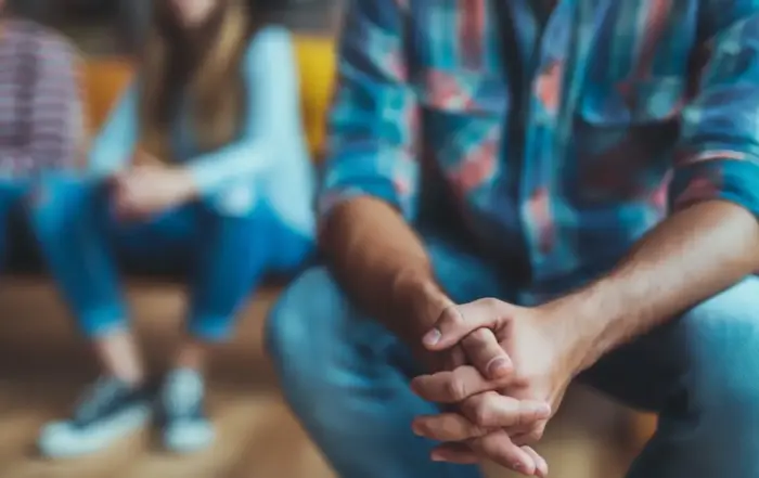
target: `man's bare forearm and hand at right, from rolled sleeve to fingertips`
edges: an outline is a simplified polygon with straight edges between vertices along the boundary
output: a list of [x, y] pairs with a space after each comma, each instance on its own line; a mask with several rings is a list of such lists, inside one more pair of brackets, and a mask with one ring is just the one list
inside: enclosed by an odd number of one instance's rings
[[515, 399], [546, 401], [556, 410], [570, 380], [603, 354], [757, 269], [757, 219], [736, 205], [709, 202], [674, 214], [614, 271], [577, 293], [537, 308], [483, 299], [448, 309], [423, 339], [428, 349], [446, 350], [488, 328], [509, 353], [514, 373], [489, 382], [459, 367], [416, 378], [412, 388], [427, 400], [475, 398], [476, 408], [420, 417], [414, 430], [448, 442], [435, 458], [491, 458], [527, 476], [545, 476], [540, 461], [518, 448], [541, 438], [545, 421], [520, 422]]

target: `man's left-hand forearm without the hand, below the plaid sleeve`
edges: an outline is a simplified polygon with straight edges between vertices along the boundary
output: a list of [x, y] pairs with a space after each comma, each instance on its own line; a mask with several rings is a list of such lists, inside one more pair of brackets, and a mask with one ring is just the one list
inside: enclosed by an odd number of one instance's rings
[[420, 308], [448, 305], [419, 236], [383, 201], [357, 197], [337, 206], [326, 218], [321, 245], [351, 299], [404, 339], [432, 326], [425, 318], [437, 319]]

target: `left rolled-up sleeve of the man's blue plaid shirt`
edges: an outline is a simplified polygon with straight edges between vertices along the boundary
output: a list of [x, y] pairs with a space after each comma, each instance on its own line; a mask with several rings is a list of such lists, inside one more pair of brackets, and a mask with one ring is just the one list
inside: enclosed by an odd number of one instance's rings
[[417, 103], [408, 85], [406, 15], [398, 0], [351, 0], [338, 46], [337, 85], [319, 208], [373, 196], [416, 212]]

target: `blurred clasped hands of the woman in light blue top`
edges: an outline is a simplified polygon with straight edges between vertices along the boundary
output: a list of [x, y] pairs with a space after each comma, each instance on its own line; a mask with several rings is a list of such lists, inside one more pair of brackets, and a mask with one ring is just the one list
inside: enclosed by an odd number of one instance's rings
[[140, 165], [113, 178], [116, 215], [139, 220], [188, 203], [197, 194], [186, 170], [156, 164]]

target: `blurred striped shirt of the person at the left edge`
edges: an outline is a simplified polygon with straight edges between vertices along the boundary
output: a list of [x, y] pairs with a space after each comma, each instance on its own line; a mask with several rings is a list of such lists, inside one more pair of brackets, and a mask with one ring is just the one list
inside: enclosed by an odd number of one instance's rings
[[74, 167], [85, 146], [76, 50], [31, 22], [0, 24], [0, 177]]

